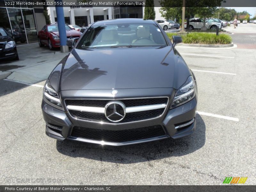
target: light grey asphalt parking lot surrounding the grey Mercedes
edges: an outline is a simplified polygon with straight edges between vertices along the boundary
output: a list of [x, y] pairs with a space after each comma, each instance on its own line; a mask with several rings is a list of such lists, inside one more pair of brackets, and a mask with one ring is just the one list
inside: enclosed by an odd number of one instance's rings
[[[250, 35], [255, 39], [256, 24]], [[244, 32], [231, 36], [239, 37], [238, 44], [248, 39]], [[42, 87], [66, 53], [37, 44], [18, 47], [20, 61], [0, 63], [1, 71], [12, 72], [0, 80], [0, 184], [26, 184], [5, 182], [14, 177], [62, 179], [30, 183], [43, 185], [221, 185], [230, 176], [248, 177], [245, 184], [255, 185], [256, 50], [177, 49], [197, 80], [195, 133], [112, 147], [45, 135]]]

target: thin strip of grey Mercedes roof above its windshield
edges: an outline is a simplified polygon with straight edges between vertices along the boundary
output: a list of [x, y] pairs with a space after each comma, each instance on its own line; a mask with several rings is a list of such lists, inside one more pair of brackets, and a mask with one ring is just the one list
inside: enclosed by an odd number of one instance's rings
[[94, 25], [104, 25], [104, 24], [118, 24], [118, 23], [151, 23], [155, 24], [155, 21], [153, 20], [143, 20], [143, 19], [111, 19], [111, 20], [102, 20], [97, 21], [94, 23]]

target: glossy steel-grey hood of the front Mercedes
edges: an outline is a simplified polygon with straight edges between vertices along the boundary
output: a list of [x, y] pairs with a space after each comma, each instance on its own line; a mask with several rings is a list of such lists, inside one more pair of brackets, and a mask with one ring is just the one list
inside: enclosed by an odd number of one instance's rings
[[60, 90], [178, 89], [189, 75], [172, 46], [73, 49], [63, 67]]

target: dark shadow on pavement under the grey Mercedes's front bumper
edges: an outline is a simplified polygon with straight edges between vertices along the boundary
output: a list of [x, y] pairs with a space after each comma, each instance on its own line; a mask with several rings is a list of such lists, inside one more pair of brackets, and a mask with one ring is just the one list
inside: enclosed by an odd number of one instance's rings
[[177, 140], [170, 138], [121, 147], [57, 140], [56, 148], [60, 153], [70, 157], [131, 164], [163, 159], [170, 156], [184, 156], [200, 149], [204, 146], [204, 143], [205, 124], [201, 116], [197, 114], [195, 133]]

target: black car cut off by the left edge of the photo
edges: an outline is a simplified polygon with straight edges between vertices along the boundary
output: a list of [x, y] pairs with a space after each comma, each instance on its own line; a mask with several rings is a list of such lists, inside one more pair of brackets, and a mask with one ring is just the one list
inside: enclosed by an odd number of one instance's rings
[[12, 35], [0, 27], [0, 60], [2, 59], [19, 60], [19, 55]]

